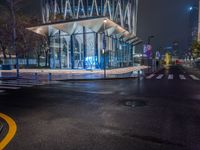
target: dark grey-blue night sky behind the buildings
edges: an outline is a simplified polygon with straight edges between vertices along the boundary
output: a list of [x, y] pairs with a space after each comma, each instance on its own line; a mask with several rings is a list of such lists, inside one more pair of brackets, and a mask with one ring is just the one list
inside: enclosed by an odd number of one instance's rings
[[[2, 1], [2, 0], [0, 0]], [[40, 0], [25, 1], [26, 12], [40, 16]], [[172, 46], [174, 41], [179, 42], [180, 51], [188, 49], [189, 38], [189, 7], [197, 0], [139, 0], [138, 32], [137, 35], [144, 42], [149, 35], [154, 35], [152, 46]], [[142, 45], [137, 47], [141, 51]]]

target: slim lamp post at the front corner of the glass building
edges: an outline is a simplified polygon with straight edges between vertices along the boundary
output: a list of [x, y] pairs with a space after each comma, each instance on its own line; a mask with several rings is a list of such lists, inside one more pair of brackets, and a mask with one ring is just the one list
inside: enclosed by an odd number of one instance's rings
[[103, 49], [102, 49], [102, 54], [104, 56], [104, 78], [106, 79], [106, 23], [107, 19], [104, 19], [103, 25], [104, 25], [104, 36], [103, 36]]

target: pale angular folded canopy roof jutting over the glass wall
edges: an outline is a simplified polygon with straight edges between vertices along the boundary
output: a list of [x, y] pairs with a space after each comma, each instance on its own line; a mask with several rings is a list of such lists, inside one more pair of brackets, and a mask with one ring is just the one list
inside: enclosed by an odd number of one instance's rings
[[142, 40], [136, 37], [134, 33], [128, 32], [126, 29], [122, 28], [120, 25], [108, 19], [107, 17], [87, 19], [84, 18], [71, 21], [63, 21], [58, 23], [43, 24], [27, 29], [37, 34], [46, 36], [49, 35], [48, 31], [49, 27], [51, 27], [57, 30], [61, 30], [68, 35], [72, 35], [76, 33], [76, 30], [78, 30], [80, 26], [86, 27], [96, 33], [103, 33], [105, 31], [106, 35], [112, 36], [117, 39], [122, 39], [124, 42], [127, 42], [129, 44], [136, 45], [142, 42]]

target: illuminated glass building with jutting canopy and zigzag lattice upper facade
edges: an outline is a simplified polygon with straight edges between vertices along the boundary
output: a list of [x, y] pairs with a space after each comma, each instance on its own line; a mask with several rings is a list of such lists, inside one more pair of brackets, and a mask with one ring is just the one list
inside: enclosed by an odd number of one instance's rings
[[43, 24], [28, 28], [48, 36], [52, 69], [133, 66], [138, 0], [42, 0]]

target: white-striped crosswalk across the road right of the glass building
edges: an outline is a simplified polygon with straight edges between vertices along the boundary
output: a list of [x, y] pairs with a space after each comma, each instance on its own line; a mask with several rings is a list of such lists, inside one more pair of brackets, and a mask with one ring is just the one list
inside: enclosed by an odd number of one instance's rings
[[156, 80], [161, 80], [161, 79], [167, 79], [167, 80], [174, 80], [174, 79], [180, 79], [180, 80], [195, 80], [195, 81], [200, 81], [200, 78], [195, 76], [195, 75], [174, 75], [174, 74], [150, 74], [149, 76], [146, 77], [146, 79], [156, 79]]

